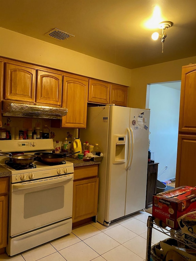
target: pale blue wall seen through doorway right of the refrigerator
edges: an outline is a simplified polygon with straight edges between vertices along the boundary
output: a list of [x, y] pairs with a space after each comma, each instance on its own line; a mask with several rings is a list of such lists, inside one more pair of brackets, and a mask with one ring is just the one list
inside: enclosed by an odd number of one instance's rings
[[147, 85], [146, 108], [150, 109], [149, 149], [159, 162], [157, 179], [175, 181], [181, 81]]

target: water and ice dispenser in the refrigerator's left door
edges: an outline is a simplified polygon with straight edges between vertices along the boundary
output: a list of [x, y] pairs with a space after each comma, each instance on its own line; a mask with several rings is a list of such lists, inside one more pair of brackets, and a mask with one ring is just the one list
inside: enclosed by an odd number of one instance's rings
[[114, 135], [113, 164], [126, 162], [126, 135]]

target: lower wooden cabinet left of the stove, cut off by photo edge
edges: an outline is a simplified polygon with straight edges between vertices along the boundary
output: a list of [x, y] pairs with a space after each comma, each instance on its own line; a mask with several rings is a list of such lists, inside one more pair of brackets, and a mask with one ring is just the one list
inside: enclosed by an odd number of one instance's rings
[[7, 245], [9, 177], [0, 178], [0, 252]]

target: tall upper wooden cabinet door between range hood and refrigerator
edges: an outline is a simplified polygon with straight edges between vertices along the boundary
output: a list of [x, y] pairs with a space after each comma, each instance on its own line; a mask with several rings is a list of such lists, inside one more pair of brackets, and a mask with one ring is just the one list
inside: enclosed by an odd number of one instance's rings
[[62, 107], [67, 108], [62, 117], [62, 127], [86, 128], [88, 78], [82, 76], [63, 76]]

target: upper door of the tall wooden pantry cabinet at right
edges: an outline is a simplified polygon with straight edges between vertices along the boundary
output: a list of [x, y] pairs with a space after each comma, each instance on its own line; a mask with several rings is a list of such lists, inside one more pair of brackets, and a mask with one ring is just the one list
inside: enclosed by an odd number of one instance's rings
[[183, 66], [180, 92], [179, 131], [196, 132], [196, 64]]

